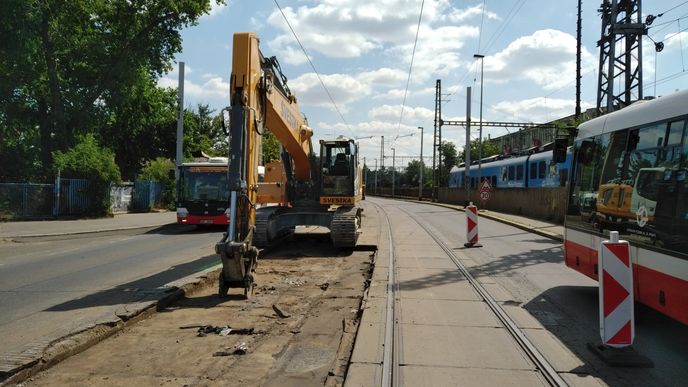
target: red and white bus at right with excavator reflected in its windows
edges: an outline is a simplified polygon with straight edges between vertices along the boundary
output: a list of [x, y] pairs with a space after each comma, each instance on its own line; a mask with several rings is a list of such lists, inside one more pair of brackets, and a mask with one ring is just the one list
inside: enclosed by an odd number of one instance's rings
[[583, 123], [574, 143], [566, 265], [598, 279], [600, 242], [631, 243], [635, 300], [688, 324], [688, 91]]

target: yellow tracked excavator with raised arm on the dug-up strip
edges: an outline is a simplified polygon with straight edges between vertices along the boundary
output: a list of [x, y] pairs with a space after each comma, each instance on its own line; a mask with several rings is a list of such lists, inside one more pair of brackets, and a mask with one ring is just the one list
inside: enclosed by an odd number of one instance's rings
[[[361, 230], [362, 169], [354, 140], [320, 141], [301, 114], [275, 57], [260, 52], [255, 33], [234, 34], [230, 78], [228, 231], [215, 245], [222, 259], [219, 295], [229, 288], [253, 290], [258, 249], [296, 226], [323, 226], [335, 247], [353, 248]], [[224, 111], [223, 111], [224, 116]], [[223, 124], [225, 120], [223, 120]], [[227, 128], [225, 126], [225, 128]], [[262, 136], [270, 131], [281, 145], [283, 178], [261, 183]], [[269, 179], [268, 179], [269, 180]], [[274, 184], [274, 186], [270, 186]]]

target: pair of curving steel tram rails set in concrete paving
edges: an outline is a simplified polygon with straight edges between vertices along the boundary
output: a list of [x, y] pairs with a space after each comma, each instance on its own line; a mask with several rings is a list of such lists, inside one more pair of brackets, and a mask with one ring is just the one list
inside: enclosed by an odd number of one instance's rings
[[[384, 214], [385, 223], [389, 233], [389, 270], [387, 282], [387, 307], [386, 307], [386, 327], [385, 345], [382, 364], [382, 386], [401, 385], [400, 354], [401, 354], [401, 335], [399, 334], [400, 300], [398, 296], [399, 283], [397, 281], [396, 257], [394, 250], [394, 234], [389, 219], [389, 214], [383, 205], [374, 203]], [[409, 211], [397, 207], [402, 213], [411, 218], [421, 227], [433, 241], [445, 252], [449, 259], [456, 265], [457, 270], [466, 278], [471, 287], [479, 294], [483, 302], [492, 311], [499, 322], [504, 326], [506, 332], [517, 344], [520, 351], [530, 360], [533, 367], [540, 373], [544, 381], [551, 386], [568, 386], [564, 379], [558, 374], [556, 369], [540, 353], [537, 347], [528, 339], [516, 322], [507, 314], [502, 306], [492, 297], [492, 295], [471, 275], [469, 270], [461, 262], [461, 259], [454, 251], [439, 237], [438, 232], [432, 226], [424, 224], [417, 216]]]

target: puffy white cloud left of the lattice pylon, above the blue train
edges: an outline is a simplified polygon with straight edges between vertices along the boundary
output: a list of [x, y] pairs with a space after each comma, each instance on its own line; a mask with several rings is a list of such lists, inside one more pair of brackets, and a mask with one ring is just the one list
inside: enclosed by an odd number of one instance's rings
[[[593, 55], [582, 50], [583, 71], [596, 66]], [[520, 37], [504, 50], [484, 59], [485, 83], [528, 81], [545, 90], [575, 80], [576, 38], [558, 30], [540, 30]]]

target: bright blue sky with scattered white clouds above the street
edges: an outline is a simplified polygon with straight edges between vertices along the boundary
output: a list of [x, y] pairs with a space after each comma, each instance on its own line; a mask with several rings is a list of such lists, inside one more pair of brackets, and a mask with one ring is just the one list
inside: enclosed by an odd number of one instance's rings
[[[279, 59], [315, 140], [340, 134], [373, 136], [360, 140], [362, 156], [371, 167], [380, 156], [380, 136], [385, 136], [386, 156], [392, 154], [392, 147], [396, 149], [398, 164], [417, 159], [418, 126], [425, 128], [423, 155], [426, 163], [431, 161], [437, 79], [442, 80], [446, 100], [443, 119], [465, 119], [468, 86], [472, 87], [471, 116], [478, 119], [480, 62], [473, 58], [476, 53], [485, 55], [485, 121], [545, 122], [574, 112], [576, 0], [427, 0], [410, 79], [421, 0], [278, 3], [336, 108], [275, 2], [267, 0], [229, 0], [226, 5], [213, 6], [197, 26], [182, 31], [183, 51], [176, 59], [186, 66], [187, 107], [207, 103], [219, 111], [228, 105], [232, 35], [253, 31], [261, 39], [263, 54]], [[596, 99], [600, 3], [583, 0], [584, 109], [594, 106]], [[685, 89], [688, 2], [645, 1], [642, 13], [664, 13], [651, 26], [649, 38], [665, 44], [662, 52], [655, 53], [651, 39], [644, 38], [644, 95]], [[176, 87], [177, 77], [175, 68], [159, 84]], [[411, 133], [414, 135], [409, 136]], [[483, 128], [484, 137], [506, 133], [504, 128]], [[477, 130], [471, 137], [477, 139]], [[443, 138], [461, 149], [465, 129], [445, 126]]]

